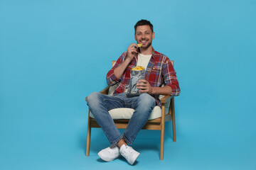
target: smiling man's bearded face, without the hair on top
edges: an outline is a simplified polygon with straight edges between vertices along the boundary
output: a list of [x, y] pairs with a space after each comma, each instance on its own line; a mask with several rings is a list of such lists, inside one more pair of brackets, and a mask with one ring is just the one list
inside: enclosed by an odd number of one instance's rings
[[151, 46], [154, 33], [152, 33], [150, 26], [138, 26], [134, 38], [138, 44], [142, 44], [141, 48], [146, 49]]

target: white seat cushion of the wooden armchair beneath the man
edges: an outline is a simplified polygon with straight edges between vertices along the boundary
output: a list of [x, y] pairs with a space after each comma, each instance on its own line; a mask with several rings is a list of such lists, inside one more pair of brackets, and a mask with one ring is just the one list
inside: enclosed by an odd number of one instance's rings
[[[109, 111], [111, 117], [114, 120], [117, 119], [130, 119], [132, 118], [132, 114], [134, 113], [134, 109], [132, 108], [114, 108]], [[94, 118], [92, 113], [90, 113], [90, 117]], [[149, 120], [153, 120], [161, 117], [161, 108], [159, 106], [155, 106], [151, 114], [149, 115]]]

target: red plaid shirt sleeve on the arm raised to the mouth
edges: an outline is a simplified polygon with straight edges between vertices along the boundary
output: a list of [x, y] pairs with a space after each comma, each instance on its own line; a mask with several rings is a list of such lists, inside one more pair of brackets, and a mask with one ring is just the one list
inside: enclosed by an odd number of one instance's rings
[[117, 84], [121, 80], [121, 78], [118, 79], [114, 75], [114, 69], [119, 67], [120, 64], [122, 64], [126, 55], [127, 55], [127, 52], [122, 53], [122, 55], [118, 58], [117, 62], [114, 64], [112, 69], [110, 69], [110, 71], [107, 72], [107, 77], [106, 77], [107, 85], [113, 86], [114, 84]]

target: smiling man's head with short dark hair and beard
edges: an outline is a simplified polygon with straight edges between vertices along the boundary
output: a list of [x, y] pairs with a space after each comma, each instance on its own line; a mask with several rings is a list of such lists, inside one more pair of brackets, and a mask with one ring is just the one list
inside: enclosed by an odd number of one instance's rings
[[138, 21], [134, 26], [134, 38], [138, 44], [142, 44], [142, 48], [151, 47], [154, 39], [153, 25], [146, 20]]

